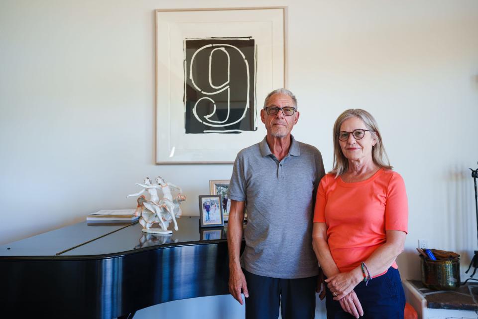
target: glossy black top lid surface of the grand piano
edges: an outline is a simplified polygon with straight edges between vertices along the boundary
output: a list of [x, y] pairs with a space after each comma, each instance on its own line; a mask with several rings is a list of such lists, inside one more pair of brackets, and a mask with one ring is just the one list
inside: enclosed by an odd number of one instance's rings
[[[227, 241], [226, 227], [199, 228], [199, 217], [182, 216], [178, 231], [159, 235], [141, 232], [139, 223], [131, 225], [87, 225], [80, 222], [40, 235], [0, 246], [0, 259], [14, 256], [50, 258], [112, 255], [151, 249], [162, 245], [177, 246]], [[169, 228], [172, 228], [170, 225]]]

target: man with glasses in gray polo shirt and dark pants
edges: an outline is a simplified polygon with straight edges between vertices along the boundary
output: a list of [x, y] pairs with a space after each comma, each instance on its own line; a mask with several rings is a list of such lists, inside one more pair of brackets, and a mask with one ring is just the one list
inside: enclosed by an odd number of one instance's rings
[[282, 318], [314, 318], [318, 263], [312, 217], [325, 174], [322, 156], [290, 134], [299, 120], [290, 91], [269, 93], [260, 118], [267, 136], [239, 152], [228, 189], [229, 290], [241, 305], [244, 294], [247, 319], [277, 319], [279, 305]]

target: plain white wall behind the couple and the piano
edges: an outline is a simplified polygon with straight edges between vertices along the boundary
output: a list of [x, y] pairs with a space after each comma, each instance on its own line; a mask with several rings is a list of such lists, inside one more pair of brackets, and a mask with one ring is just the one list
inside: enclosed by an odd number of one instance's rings
[[0, 0], [0, 244], [132, 207], [125, 194], [144, 176], [181, 185], [197, 215], [209, 179], [232, 167], [154, 164], [153, 10], [272, 5], [289, 7], [295, 137], [330, 169], [336, 117], [371, 112], [407, 185], [402, 277], [420, 276], [418, 238], [466, 268], [477, 249], [476, 0]]

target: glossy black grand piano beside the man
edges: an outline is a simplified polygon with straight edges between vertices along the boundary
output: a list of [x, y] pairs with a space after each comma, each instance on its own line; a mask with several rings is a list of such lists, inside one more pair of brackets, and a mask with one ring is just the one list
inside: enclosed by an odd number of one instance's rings
[[[81, 222], [0, 246], [1, 318], [132, 318], [168, 301], [229, 294], [225, 228]], [[9, 317], [7, 314], [16, 314]]]

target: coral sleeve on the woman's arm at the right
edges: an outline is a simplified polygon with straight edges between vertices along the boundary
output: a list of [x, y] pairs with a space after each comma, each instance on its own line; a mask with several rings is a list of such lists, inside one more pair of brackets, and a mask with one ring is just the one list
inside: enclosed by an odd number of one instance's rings
[[393, 173], [387, 188], [385, 205], [385, 230], [401, 230], [408, 233], [408, 199], [405, 182]]

